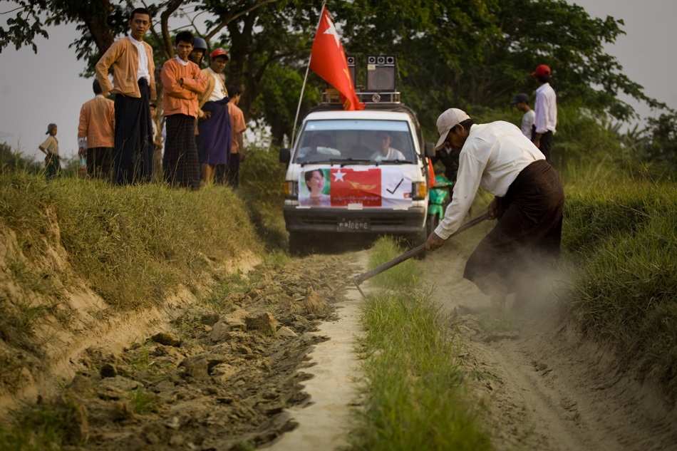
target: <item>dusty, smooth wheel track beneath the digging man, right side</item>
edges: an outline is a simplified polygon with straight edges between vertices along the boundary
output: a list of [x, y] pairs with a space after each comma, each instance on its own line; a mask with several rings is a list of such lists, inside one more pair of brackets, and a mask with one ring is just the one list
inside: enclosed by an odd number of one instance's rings
[[559, 321], [552, 299], [522, 318], [490, 313], [487, 296], [462, 279], [465, 258], [452, 242], [423, 266], [465, 343], [497, 450], [677, 450], [677, 412], [619, 373], [609, 349]]

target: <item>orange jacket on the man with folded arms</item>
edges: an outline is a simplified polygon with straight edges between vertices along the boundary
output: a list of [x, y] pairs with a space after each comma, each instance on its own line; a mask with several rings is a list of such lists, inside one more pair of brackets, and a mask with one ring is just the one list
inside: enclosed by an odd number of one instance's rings
[[[197, 94], [207, 87], [207, 79], [192, 61], [182, 65], [172, 58], [162, 66], [162, 110], [165, 116], [185, 114], [197, 118]], [[183, 78], [183, 85], [179, 84]]]

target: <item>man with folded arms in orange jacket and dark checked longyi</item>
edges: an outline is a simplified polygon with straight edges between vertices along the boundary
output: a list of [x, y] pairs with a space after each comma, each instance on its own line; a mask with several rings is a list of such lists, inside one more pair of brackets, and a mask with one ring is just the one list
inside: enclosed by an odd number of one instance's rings
[[195, 145], [197, 95], [207, 87], [200, 67], [188, 61], [195, 38], [190, 31], [181, 31], [175, 37], [176, 58], [162, 66], [162, 109], [167, 130], [162, 169], [170, 185], [198, 190], [200, 164]]

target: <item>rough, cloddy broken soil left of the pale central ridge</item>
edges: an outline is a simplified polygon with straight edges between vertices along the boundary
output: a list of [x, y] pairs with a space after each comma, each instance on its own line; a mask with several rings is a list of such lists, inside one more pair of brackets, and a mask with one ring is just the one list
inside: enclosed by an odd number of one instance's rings
[[[94, 326], [100, 341], [71, 339], [68, 368], [33, 364], [24, 368], [32, 383], [13, 386], [68, 418], [72, 450], [259, 447], [297, 426], [284, 410], [309, 403], [307, 354], [327, 339], [313, 332], [336, 318], [335, 305], [356, 272], [334, 256], [257, 266], [244, 276], [242, 291], [220, 301], [222, 308], [199, 306], [186, 292], [173, 311], [107, 318], [102, 325], [136, 328], [135, 340], [123, 331], [116, 340], [114, 328], [103, 338]], [[76, 352], [81, 342], [90, 346]], [[59, 361], [46, 348], [31, 358], [39, 355]], [[64, 388], [54, 390], [59, 380]], [[5, 393], [10, 386], [4, 384]], [[6, 405], [16, 395], [6, 395]]]

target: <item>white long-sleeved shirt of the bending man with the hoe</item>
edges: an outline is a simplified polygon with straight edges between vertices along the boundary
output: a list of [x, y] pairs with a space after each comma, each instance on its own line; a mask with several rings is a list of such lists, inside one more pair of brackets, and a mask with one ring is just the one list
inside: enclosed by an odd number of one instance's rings
[[458, 230], [477, 188], [503, 197], [524, 167], [537, 160], [545, 157], [514, 124], [498, 120], [472, 125], [458, 158], [453, 199], [435, 234], [447, 239]]

